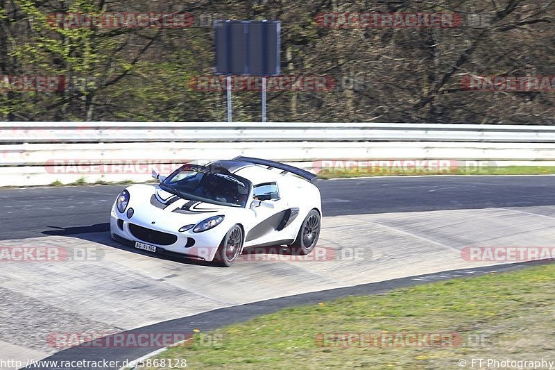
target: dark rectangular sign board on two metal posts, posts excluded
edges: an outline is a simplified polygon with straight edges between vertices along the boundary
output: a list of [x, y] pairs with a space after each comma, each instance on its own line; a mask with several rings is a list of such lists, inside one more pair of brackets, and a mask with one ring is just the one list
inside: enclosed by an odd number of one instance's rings
[[280, 74], [280, 21], [215, 21], [214, 30], [216, 74]]

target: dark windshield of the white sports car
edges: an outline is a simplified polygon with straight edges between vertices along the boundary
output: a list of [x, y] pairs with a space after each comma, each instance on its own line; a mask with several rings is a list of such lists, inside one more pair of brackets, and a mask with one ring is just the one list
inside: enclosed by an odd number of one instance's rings
[[160, 183], [164, 190], [182, 198], [243, 208], [251, 186], [246, 178], [196, 165], [182, 166]]

